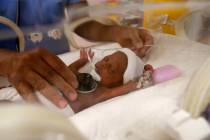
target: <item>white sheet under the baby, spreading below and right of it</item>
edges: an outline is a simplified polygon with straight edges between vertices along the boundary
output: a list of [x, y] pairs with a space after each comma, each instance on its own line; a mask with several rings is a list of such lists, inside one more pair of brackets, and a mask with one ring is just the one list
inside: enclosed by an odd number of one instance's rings
[[158, 41], [148, 63], [172, 64], [182, 77], [97, 104], [70, 118], [90, 140], [169, 140], [167, 120], [193, 73], [210, 54], [209, 46], [156, 35]]

